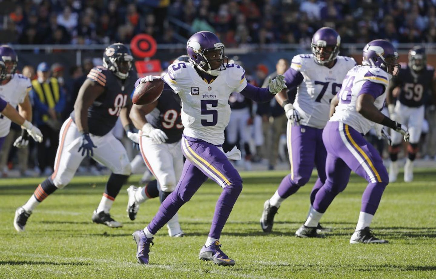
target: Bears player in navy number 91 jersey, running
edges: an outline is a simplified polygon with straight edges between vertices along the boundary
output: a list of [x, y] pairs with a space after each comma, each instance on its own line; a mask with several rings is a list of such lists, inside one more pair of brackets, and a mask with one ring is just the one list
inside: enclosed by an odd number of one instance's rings
[[92, 68], [79, 90], [74, 111], [60, 131], [53, 174], [38, 185], [26, 204], [17, 208], [14, 227], [24, 231], [34, 208], [48, 195], [65, 187], [74, 177], [84, 156], [102, 163], [112, 174], [92, 221], [111, 228], [121, 227], [109, 214], [112, 203], [131, 173], [123, 144], [110, 131], [118, 117], [129, 129], [129, 95], [136, 74], [131, 71], [133, 56], [121, 43], [109, 45], [103, 54], [103, 67]]

